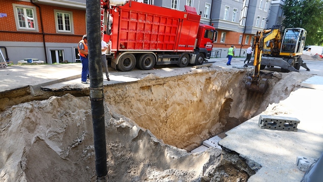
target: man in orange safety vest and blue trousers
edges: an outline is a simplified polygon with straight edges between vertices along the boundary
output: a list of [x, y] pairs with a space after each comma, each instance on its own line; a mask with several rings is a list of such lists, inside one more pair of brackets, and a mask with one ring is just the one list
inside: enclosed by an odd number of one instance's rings
[[89, 74], [89, 58], [87, 53], [87, 35], [83, 35], [82, 40], [78, 44], [80, 60], [82, 63], [81, 83], [87, 84], [86, 78]]

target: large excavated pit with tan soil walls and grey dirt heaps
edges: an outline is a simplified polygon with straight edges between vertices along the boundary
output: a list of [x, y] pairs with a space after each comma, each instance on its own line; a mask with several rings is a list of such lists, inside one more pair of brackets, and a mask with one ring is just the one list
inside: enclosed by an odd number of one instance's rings
[[[105, 86], [109, 181], [246, 181], [261, 166], [234, 151], [189, 151], [287, 98], [295, 74], [272, 74], [265, 94], [244, 89], [245, 71], [224, 69]], [[15, 105], [0, 124], [3, 181], [95, 181], [89, 97]]]

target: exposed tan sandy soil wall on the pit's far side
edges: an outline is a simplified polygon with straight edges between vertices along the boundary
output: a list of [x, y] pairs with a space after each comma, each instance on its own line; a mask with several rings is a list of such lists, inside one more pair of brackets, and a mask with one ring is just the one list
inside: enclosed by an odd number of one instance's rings
[[[105, 102], [166, 144], [190, 151], [287, 98], [307, 78], [296, 72], [266, 71], [270, 88], [261, 94], [244, 89], [246, 76], [238, 69], [199, 69], [167, 78], [149, 75], [106, 86]], [[281, 79], [288, 81], [280, 83]]]

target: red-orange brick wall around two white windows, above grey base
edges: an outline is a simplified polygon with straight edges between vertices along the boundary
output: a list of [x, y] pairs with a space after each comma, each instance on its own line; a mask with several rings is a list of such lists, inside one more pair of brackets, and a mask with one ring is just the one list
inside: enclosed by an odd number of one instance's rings
[[[39, 8], [36, 7], [36, 12], [34, 12], [35, 15], [37, 15], [39, 32], [17, 31], [12, 4], [35, 7], [35, 5], [30, 2], [20, 2], [13, 0], [1, 1], [0, 13], [6, 13], [7, 17], [0, 18], [0, 27], [2, 27], [0, 29], [0, 41], [42, 42], [43, 40]], [[85, 10], [74, 10], [40, 4], [37, 5], [41, 9], [45, 42], [75, 43], [80, 41], [82, 39], [82, 36], [86, 33]], [[56, 33], [54, 10], [64, 10], [73, 13], [74, 34]]]

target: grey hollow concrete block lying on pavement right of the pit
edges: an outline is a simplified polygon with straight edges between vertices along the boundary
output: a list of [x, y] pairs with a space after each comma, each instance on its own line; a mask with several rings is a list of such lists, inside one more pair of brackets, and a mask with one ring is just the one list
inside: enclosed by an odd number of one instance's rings
[[258, 126], [261, 129], [297, 131], [298, 123], [300, 120], [293, 117], [260, 115]]

